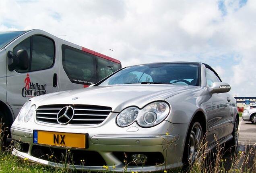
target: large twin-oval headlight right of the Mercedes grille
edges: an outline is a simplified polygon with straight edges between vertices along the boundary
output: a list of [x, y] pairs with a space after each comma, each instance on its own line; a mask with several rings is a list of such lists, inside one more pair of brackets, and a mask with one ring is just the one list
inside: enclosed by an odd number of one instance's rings
[[124, 109], [117, 117], [116, 122], [126, 127], [137, 121], [141, 127], [152, 127], [161, 123], [169, 114], [170, 107], [165, 102], [154, 102], [139, 110], [136, 107]]

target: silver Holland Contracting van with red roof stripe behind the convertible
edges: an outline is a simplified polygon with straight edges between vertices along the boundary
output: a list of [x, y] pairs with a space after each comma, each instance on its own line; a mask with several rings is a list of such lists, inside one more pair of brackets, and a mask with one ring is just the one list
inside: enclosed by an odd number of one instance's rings
[[0, 120], [10, 127], [31, 97], [88, 87], [120, 68], [42, 30], [0, 32]]

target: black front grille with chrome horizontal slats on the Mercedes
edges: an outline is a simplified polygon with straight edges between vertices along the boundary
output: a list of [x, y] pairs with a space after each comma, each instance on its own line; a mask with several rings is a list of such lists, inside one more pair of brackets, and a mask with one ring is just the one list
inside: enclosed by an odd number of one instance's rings
[[41, 123], [58, 124], [57, 115], [66, 106], [74, 109], [74, 117], [68, 123], [70, 125], [98, 125], [111, 112], [111, 107], [95, 105], [43, 105], [37, 108], [36, 120]]

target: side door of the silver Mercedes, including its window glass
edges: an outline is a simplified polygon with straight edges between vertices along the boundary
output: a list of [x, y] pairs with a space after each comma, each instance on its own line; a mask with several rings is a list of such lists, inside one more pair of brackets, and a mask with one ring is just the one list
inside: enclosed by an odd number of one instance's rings
[[[206, 68], [206, 82], [207, 87], [211, 87], [213, 82], [220, 82], [215, 73]], [[227, 93], [214, 93], [211, 95], [212, 108], [211, 112], [207, 115], [209, 131], [215, 135], [217, 140], [222, 139], [229, 135], [227, 131], [228, 125], [232, 123], [231, 120], [231, 106], [229, 94]]]

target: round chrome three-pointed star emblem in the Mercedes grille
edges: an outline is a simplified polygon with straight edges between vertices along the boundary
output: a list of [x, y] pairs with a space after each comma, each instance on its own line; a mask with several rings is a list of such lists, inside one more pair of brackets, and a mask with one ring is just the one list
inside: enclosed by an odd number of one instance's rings
[[68, 124], [74, 117], [74, 109], [71, 106], [62, 108], [57, 115], [57, 122], [61, 125]]

